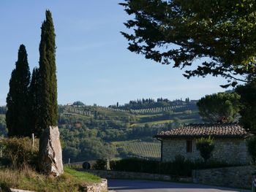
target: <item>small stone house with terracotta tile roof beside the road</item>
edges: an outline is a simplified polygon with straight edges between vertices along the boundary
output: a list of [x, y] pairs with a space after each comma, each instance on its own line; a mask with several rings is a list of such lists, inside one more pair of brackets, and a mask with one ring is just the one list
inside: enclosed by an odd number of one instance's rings
[[196, 149], [196, 139], [209, 137], [214, 139], [214, 151], [211, 160], [228, 164], [248, 164], [246, 138], [250, 136], [237, 123], [190, 124], [169, 131], [162, 131], [155, 137], [161, 141], [161, 160], [173, 161], [177, 155], [195, 161], [200, 159]]

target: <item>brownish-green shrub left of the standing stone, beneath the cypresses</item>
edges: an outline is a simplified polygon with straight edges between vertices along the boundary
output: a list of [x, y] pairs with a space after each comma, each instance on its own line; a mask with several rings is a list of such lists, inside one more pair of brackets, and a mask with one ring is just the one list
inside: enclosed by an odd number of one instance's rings
[[10, 165], [15, 168], [23, 166], [37, 166], [38, 161], [38, 140], [35, 139], [34, 148], [29, 137], [24, 138], [2, 138], [0, 147], [2, 149], [3, 158], [1, 162], [9, 161]]

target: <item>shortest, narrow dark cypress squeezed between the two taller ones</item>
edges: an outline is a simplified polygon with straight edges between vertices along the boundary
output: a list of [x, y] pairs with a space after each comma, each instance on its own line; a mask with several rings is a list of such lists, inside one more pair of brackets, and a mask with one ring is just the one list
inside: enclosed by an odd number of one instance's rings
[[37, 68], [33, 69], [31, 83], [29, 86], [29, 121], [31, 132], [35, 136], [39, 137], [39, 71]]

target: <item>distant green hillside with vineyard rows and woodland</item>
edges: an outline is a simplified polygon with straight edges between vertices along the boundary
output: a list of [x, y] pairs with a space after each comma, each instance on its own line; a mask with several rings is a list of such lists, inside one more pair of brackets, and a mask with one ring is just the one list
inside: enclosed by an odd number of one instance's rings
[[[135, 108], [86, 105], [59, 105], [59, 131], [63, 158], [72, 162], [97, 158], [160, 157], [160, 143], [153, 139], [159, 131], [186, 123], [199, 123], [194, 102], [143, 104]], [[156, 105], [157, 107], [154, 107]], [[4, 110], [1, 110], [4, 111]], [[5, 111], [4, 111], [5, 112]], [[4, 113], [1, 112], [1, 113]], [[0, 131], [6, 135], [4, 114]]]

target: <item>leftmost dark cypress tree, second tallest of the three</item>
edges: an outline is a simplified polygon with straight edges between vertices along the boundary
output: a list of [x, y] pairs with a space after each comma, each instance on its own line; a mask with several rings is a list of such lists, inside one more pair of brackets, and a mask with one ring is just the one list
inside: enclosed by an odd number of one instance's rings
[[29, 82], [30, 72], [26, 47], [20, 45], [18, 61], [10, 78], [7, 95], [6, 123], [9, 137], [29, 136]]

